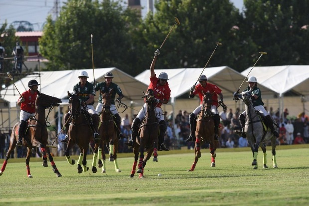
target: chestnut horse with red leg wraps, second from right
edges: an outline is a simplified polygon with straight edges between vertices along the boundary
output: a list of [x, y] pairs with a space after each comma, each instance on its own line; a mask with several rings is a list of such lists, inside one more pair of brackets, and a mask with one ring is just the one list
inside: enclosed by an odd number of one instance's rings
[[200, 114], [196, 119], [196, 141], [194, 146], [195, 160], [191, 167], [190, 171], [194, 171], [195, 166], [198, 162], [198, 159], [202, 156], [201, 154], [201, 145], [204, 143], [209, 143], [209, 150], [211, 153], [211, 167], [216, 166], [216, 149], [218, 147], [218, 142], [214, 140], [215, 135], [215, 124], [213, 120], [213, 114], [211, 113], [212, 106], [212, 94], [210, 92], [206, 92], [203, 95], [203, 105]]

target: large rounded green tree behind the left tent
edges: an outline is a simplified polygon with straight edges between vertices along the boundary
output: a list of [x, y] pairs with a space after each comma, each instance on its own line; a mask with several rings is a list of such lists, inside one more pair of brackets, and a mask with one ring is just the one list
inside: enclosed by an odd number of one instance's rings
[[[40, 51], [49, 59], [48, 70], [118, 67], [129, 72], [132, 40], [130, 28], [138, 15], [112, 0], [68, 0], [53, 22], [44, 26]], [[129, 63], [129, 64], [128, 64]]]

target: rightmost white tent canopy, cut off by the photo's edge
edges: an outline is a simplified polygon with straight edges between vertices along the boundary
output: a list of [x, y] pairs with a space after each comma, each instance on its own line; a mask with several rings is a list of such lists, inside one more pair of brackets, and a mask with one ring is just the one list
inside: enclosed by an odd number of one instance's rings
[[[246, 69], [241, 74], [247, 76], [250, 69]], [[308, 65], [254, 67], [248, 76], [255, 76], [258, 83], [274, 90], [279, 96], [288, 91], [309, 96]]]

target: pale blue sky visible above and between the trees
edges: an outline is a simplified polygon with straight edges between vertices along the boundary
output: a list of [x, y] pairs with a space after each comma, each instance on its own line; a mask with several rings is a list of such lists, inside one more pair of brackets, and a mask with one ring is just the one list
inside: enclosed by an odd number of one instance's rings
[[[0, 0], [0, 26], [7, 20], [10, 25], [14, 21], [28, 21], [33, 24], [35, 31], [42, 30], [48, 15], [53, 16], [56, 0]], [[60, 7], [67, 0], [59, 0]], [[140, 0], [142, 16], [147, 12], [147, 0]], [[243, 0], [230, 0], [240, 11]], [[154, 2], [154, 0], [153, 0]], [[54, 16], [53, 16], [54, 17]]]

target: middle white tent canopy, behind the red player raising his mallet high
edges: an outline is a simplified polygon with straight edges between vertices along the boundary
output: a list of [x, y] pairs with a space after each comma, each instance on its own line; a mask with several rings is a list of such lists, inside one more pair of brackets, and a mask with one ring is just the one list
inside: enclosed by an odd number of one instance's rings
[[[155, 69], [157, 76], [161, 72], [166, 72], [168, 74], [168, 83], [171, 89], [172, 98], [177, 98], [185, 93], [188, 94], [190, 88], [197, 82], [202, 71], [203, 68]], [[245, 78], [245, 76], [228, 66], [208, 67], [205, 68], [203, 74], [207, 76], [209, 83], [217, 85], [222, 90], [222, 94], [225, 98], [231, 98], [233, 92], [238, 90]], [[144, 83], [149, 83], [149, 77], [150, 71], [145, 70], [135, 78]], [[245, 86], [247, 86], [247, 84], [244, 83], [242, 90]], [[260, 85], [259, 88], [263, 93], [263, 97], [273, 98], [276, 94], [274, 91], [264, 86]]]

